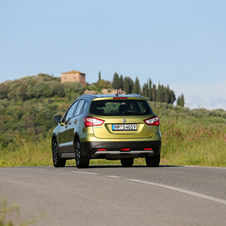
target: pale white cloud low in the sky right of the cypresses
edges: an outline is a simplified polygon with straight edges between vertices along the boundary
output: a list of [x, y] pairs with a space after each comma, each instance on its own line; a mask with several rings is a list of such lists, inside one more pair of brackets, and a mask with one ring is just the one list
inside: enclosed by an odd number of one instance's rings
[[186, 106], [193, 108], [206, 108], [208, 110], [222, 108], [226, 110], [226, 80], [197, 83], [171, 84], [176, 97], [184, 94]]

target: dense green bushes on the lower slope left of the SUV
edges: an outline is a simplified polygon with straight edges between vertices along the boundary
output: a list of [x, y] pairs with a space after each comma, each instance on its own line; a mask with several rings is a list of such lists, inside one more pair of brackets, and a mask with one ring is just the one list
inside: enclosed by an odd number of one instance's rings
[[[77, 96], [75, 95], [74, 98]], [[36, 135], [45, 134], [55, 126], [53, 116], [63, 115], [70, 106], [65, 98], [32, 99], [15, 102], [0, 100], [0, 147], [6, 147], [15, 141], [17, 134], [27, 140]]]

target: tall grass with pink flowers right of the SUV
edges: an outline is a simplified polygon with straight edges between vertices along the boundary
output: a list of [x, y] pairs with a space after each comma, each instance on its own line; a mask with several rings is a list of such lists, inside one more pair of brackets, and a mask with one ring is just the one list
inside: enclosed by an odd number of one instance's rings
[[162, 164], [226, 166], [226, 127], [169, 120], [162, 125]]

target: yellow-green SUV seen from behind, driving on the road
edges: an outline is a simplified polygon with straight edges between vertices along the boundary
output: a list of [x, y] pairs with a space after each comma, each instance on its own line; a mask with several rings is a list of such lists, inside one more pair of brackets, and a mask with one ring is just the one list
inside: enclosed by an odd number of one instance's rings
[[159, 166], [159, 118], [140, 95], [82, 95], [54, 121], [59, 123], [52, 136], [55, 167], [67, 159], [75, 159], [78, 168], [88, 167], [90, 159], [120, 159], [129, 167], [139, 157], [147, 166]]

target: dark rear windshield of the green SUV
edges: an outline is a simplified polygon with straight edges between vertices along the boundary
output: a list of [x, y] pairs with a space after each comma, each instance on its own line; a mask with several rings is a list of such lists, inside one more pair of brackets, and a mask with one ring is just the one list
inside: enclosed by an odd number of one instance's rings
[[145, 100], [98, 100], [92, 101], [90, 113], [95, 115], [148, 115], [153, 113]]

